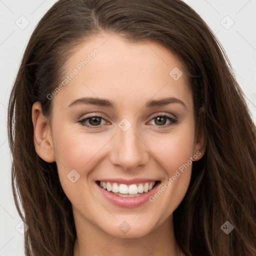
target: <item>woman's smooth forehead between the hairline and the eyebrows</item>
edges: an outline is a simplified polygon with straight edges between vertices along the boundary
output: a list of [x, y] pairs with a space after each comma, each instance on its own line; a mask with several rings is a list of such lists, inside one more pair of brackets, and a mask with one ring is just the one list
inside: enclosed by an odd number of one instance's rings
[[76, 48], [65, 75], [68, 81], [55, 98], [67, 103], [79, 96], [109, 98], [118, 106], [163, 96], [191, 103], [180, 61], [153, 41], [128, 43], [115, 34], [97, 35]]

